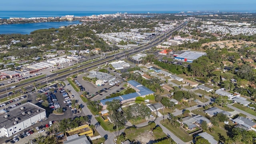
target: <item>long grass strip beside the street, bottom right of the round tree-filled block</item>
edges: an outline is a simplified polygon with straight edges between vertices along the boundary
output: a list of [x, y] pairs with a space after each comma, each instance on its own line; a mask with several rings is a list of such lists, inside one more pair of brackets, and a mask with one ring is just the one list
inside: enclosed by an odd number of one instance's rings
[[180, 138], [180, 140], [182, 140], [183, 142], [190, 142], [191, 140], [193, 140], [193, 137], [188, 135], [186, 132], [184, 132], [183, 130], [181, 130], [180, 128], [173, 128], [169, 123], [168, 120], [161, 120], [160, 123], [166, 127], [168, 130], [170, 130], [173, 134], [175, 134], [178, 138]]

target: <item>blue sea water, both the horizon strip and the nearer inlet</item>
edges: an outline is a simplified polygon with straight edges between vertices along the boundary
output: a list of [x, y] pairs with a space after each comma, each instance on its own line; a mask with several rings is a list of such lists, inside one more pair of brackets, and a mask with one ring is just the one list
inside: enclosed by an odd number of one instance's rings
[[[74, 16], [92, 16], [99, 14], [116, 14], [117, 11], [93, 12], [93, 11], [0, 11], [0, 18], [34, 18], [34, 17], [61, 17], [66, 15]], [[120, 12], [119, 12], [120, 13]], [[122, 12], [124, 13], [124, 12]], [[127, 12], [128, 14], [148, 13], [148, 12]], [[178, 13], [177, 11], [170, 12], [150, 12], [150, 13]], [[79, 21], [64, 21], [64, 22], [41, 22], [29, 24], [2, 24], [0, 25], [0, 34], [30, 34], [30, 32], [46, 28], [59, 28], [60, 26], [68, 26], [78, 24]]]

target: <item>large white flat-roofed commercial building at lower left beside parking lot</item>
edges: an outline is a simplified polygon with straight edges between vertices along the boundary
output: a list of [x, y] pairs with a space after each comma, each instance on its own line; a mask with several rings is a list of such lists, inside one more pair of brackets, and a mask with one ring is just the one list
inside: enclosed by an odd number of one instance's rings
[[46, 112], [43, 108], [26, 102], [9, 111], [0, 110], [0, 137], [10, 137], [18, 132], [46, 120]]

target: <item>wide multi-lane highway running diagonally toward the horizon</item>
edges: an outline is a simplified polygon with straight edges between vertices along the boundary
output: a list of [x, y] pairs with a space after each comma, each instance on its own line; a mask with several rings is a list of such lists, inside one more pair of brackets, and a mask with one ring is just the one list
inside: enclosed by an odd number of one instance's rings
[[[106, 56], [108, 58], [103, 58], [103, 59], [98, 59], [96, 61], [94, 61], [93, 63], [87, 63], [87, 64], [79, 64], [77, 68], [74, 68], [72, 70], [70, 70], [72, 67], [70, 68], [66, 68], [66, 70], [58, 72], [56, 71], [56, 73], [47, 75], [47, 82], [53, 82], [54, 80], [60, 80], [62, 78], [66, 78], [67, 76], [69, 76], [72, 73], [76, 73], [76, 72], [83, 72], [84, 69], [88, 69], [88, 68], [93, 68], [95, 66], [99, 66], [102, 64], [106, 64], [106, 62], [111, 62], [113, 60], [119, 60], [119, 58], [123, 57], [123, 56], [128, 56], [132, 53], [136, 53], [136, 52], [143, 52], [146, 49], [152, 48], [154, 46], [157, 46], [158, 44], [160, 44], [163, 40], [165, 40], [166, 38], [170, 37], [172, 35], [173, 32], [182, 29], [184, 26], [186, 26], [187, 22], [184, 22], [182, 24], [180, 24], [179, 26], [177, 26], [176, 28], [173, 28], [172, 30], [168, 31], [165, 34], [162, 34], [161, 36], [158, 36], [157, 38], [155, 38], [154, 40], [151, 40], [150, 42], [148, 42], [147, 44], [144, 44], [143, 46], [138, 46], [136, 48], [133, 49], [129, 49], [129, 50], [125, 50], [122, 52], [119, 52], [117, 54], [112, 54], [109, 56]], [[90, 66], [88, 66], [90, 65]], [[77, 66], [77, 65], [75, 65]], [[68, 73], [66, 73], [68, 72]], [[4, 98], [8, 96], [9, 92], [12, 92], [13, 90], [15, 90], [16, 92], [22, 92], [20, 88], [24, 88], [26, 89], [26, 92], [30, 92], [33, 90], [33, 83], [35, 83], [36, 85], [38, 85], [38, 83], [42, 85], [46, 84], [46, 77], [43, 78], [38, 78], [37, 80], [31, 80], [29, 82], [25, 82], [21, 84], [17, 84], [16, 88], [11, 89], [10, 86], [6, 87], [6, 86], [2, 86], [2, 89], [0, 89], [0, 98]], [[13, 84], [11, 85], [13, 86]], [[7, 91], [7, 92], [6, 92]]]

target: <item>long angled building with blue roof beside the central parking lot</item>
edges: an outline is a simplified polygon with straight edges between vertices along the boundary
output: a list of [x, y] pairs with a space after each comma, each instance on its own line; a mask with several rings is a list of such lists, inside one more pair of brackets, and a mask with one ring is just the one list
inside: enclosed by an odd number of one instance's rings
[[125, 103], [128, 101], [135, 100], [136, 97], [138, 96], [145, 97], [147, 95], [154, 94], [152, 90], [146, 88], [145, 86], [142, 86], [142, 84], [136, 82], [135, 80], [129, 80], [127, 84], [128, 86], [136, 90], [136, 92], [101, 100], [100, 103], [102, 104], [103, 109], [106, 109], [106, 102], [111, 102], [112, 100], [120, 100], [121, 103]]

